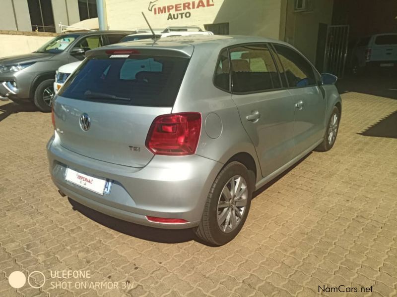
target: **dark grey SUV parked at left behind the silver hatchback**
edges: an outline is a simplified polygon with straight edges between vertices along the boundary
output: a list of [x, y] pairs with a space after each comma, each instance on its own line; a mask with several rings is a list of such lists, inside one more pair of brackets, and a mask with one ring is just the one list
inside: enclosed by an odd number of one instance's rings
[[57, 36], [32, 53], [0, 58], [0, 99], [16, 103], [34, 100], [40, 110], [51, 111], [54, 77], [60, 66], [83, 60], [87, 50], [118, 43], [132, 33], [68, 33]]

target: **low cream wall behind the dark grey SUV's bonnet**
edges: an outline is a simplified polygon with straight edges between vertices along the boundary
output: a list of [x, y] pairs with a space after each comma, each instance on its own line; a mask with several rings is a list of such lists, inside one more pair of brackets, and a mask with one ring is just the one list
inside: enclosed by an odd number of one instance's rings
[[0, 34], [0, 57], [35, 51], [54, 36]]

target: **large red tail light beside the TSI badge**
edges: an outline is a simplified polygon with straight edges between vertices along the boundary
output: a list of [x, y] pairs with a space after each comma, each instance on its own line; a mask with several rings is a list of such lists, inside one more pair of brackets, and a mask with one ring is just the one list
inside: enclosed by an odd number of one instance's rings
[[199, 112], [156, 117], [146, 137], [146, 148], [160, 155], [190, 155], [196, 152], [201, 131]]

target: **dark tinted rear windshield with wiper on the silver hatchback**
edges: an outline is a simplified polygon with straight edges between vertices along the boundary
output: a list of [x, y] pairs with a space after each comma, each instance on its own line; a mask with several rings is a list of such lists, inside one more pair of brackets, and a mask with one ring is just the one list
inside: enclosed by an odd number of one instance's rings
[[60, 96], [138, 106], [173, 106], [188, 58], [93, 56], [67, 80]]

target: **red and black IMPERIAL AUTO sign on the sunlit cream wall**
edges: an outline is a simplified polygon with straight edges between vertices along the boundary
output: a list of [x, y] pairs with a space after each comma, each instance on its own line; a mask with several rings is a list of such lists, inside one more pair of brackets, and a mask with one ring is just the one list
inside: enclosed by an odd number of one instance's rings
[[168, 5], [161, 5], [159, 1], [161, 0], [150, 1], [148, 10], [155, 15], [167, 15], [167, 20], [190, 18], [191, 10], [214, 6], [213, 0], [194, 0]]

